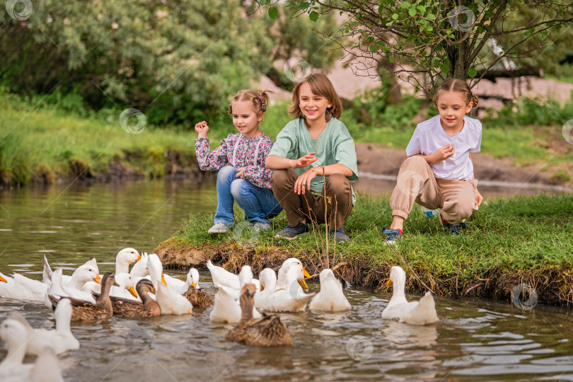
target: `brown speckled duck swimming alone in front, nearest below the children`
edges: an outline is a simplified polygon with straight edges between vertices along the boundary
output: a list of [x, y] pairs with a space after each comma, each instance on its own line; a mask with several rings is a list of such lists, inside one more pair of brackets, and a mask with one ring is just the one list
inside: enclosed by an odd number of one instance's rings
[[253, 284], [245, 284], [241, 289], [241, 321], [225, 338], [242, 345], [292, 345], [292, 336], [279, 316], [262, 313], [261, 318], [253, 319], [255, 291]]

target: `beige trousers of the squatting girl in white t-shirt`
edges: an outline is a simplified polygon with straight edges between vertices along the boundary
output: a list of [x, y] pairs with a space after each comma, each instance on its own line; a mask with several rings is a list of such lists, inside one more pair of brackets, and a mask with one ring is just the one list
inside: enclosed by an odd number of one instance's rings
[[398, 180], [390, 197], [392, 215], [407, 219], [416, 202], [428, 209], [439, 208], [444, 219], [458, 224], [477, 210], [476, 187], [475, 179], [436, 179], [424, 158], [410, 156], [400, 166]]

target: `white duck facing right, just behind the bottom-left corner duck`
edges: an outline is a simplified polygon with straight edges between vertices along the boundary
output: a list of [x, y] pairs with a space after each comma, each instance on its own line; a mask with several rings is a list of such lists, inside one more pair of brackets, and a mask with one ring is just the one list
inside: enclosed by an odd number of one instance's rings
[[79, 342], [70, 330], [72, 308], [69, 299], [59, 301], [54, 316], [56, 318], [56, 329], [34, 329], [28, 321], [18, 312], [13, 312], [10, 318], [18, 320], [28, 333], [26, 342], [26, 354], [40, 355], [42, 349], [50, 347], [56, 354], [61, 354], [69, 349], [79, 349]]

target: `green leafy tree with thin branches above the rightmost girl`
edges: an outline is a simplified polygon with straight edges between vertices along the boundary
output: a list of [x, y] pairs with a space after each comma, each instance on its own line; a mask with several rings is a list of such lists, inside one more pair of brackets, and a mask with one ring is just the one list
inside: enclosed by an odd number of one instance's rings
[[[352, 44], [348, 54], [374, 62], [387, 57], [400, 76], [427, 95], [448, 77], [482, 79], [499, 60], [516, 55], [525, 42], [543, 44], [550, 32], [573, 21], [569, 0], [288, 0], [294, 16], [307, 13], [311, 20], [336, 12], [345, 16], [340, 33]], [[277, 16], [274, 0], [269, 15]], [[519, 18], [521, 7], [535, 10], [535, 17]], [[328, 35], [326, 35], [328, 37]], [[484, 51], [490, 39], [508, 40], [504, 51], [491, 61]], [[386, 66], [388, 67], [388, 66]], [[480, 76], [477, 76], [478, 71]]]

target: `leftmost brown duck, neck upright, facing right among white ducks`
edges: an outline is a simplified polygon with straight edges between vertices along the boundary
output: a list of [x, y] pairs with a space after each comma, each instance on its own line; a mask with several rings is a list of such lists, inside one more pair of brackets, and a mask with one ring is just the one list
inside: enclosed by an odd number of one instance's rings
[[[110, 301], [110, 289], [113, 284], [119, 287], [119, 285], [115, 283], [113, 274], [110, 272], [105, 273], [101, 279], [101, 294], [98, 296], [95, 304], [89, 301], [74, 299], [73, 297], [66, 297], [66, 299], [71, 301], [71, 306], [74, 311], [71, 315], [72, 318], [94, 321], [111, 317], [113, 308]], [[58, 301], [52, 296], [50, 296], [50, 301], [52, 301], [52, 306], [55, 309]]]

